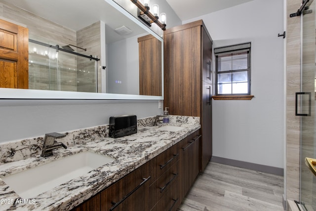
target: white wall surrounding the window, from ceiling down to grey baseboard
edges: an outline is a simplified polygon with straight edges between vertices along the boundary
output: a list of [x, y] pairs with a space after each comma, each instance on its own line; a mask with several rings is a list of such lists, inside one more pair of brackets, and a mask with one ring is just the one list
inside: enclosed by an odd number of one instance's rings
[[185, 23], [198, 19], [215, 48], [251, 42], [255, 97], [213, 100], [213, 156], [283, 168], [283, 0], [253, 0]]

